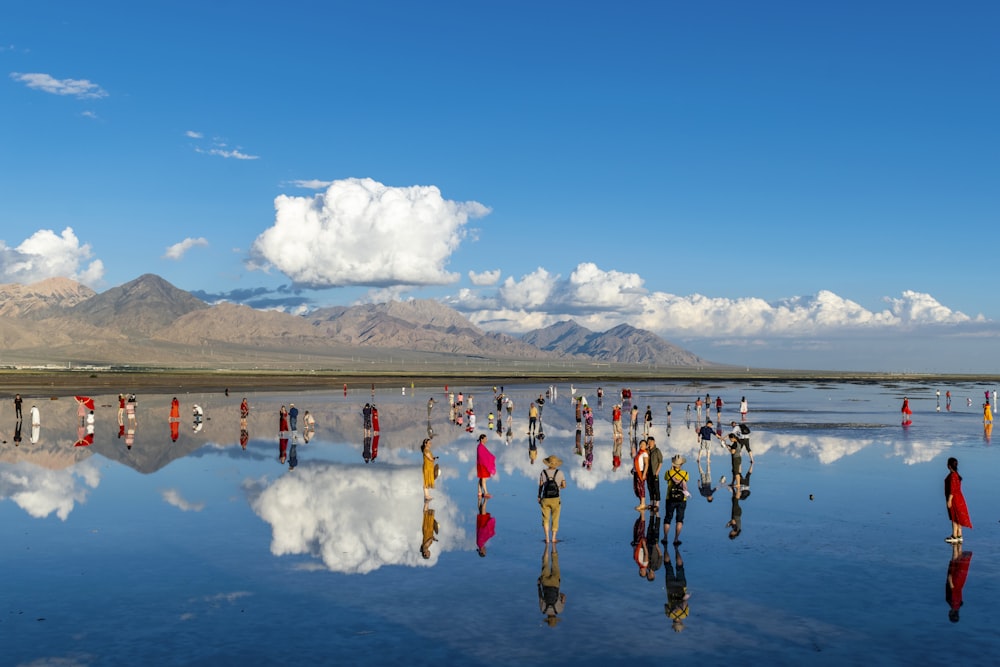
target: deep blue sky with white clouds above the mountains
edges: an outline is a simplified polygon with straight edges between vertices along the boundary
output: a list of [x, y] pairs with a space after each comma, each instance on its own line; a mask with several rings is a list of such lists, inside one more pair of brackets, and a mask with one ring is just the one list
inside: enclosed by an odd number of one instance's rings
[[0, 282], [1000, 372], [1000, 6], [0, 5]]

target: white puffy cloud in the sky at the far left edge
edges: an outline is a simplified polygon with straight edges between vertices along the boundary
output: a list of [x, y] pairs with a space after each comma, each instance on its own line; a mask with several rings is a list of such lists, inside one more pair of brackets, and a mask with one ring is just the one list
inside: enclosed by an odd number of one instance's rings
[[104, 263], [94, 259], [90, 244], [80, 240], [67, 227], [57, 235], [41, 229], [16, 248], [0, 240], [0, 278], [5, 282], [28, 285], [46, 278], [65, 277], [93, 285], [104, 276]]

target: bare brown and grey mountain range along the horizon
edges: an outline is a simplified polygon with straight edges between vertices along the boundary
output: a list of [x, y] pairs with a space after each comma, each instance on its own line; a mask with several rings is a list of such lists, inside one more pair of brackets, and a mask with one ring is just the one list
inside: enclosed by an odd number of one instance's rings
[[295, 315], [210, 305], [153, 274], [101, 293], [66, 278], [0, 285], [0, 346], [0, 365], [7, 366], [316, 368], [387, 356], [404, 364], [465, 358], [712, 365], [627, 324], [594, 332], [563, 321], [514, 337], [485, 332], [430, 299]]

